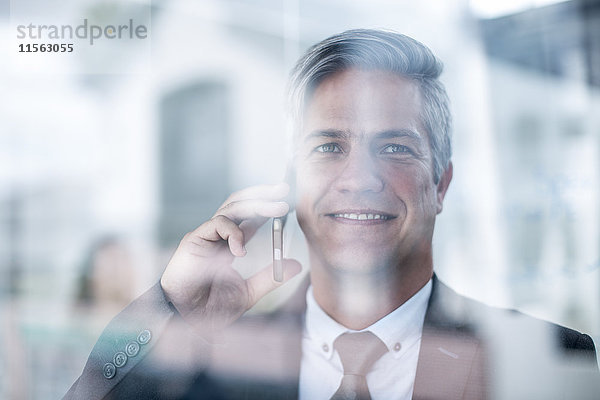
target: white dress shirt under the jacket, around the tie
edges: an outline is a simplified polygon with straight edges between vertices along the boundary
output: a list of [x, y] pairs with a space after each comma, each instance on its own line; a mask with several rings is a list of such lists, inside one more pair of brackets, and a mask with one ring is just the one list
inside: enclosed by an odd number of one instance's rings
[[[366, 376], [373, 400], [412, 398], [431, 285], [430, 280], [400, 307], [362, 330], [377, 335], [389, 350], [373, 364]], [[306, 306], [299, 398], [329, 399], [343, 376], [342, 363], [333, 349], [333, 342], [345, 332], [358, 331], [329, 317], [317, 304], [312, 286], [306, 293]]]

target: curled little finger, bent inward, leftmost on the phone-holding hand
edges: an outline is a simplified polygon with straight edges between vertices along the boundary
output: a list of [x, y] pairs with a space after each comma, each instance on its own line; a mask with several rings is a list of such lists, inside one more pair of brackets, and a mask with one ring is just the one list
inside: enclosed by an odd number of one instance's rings
[[191, 233], [190, 240], [200, 246], [205, 240], [211, 242], [225, 240], [231, 254], [237, 257], [246, 255], [244, 232], [234, 221], [222, 215], [217, 215], [200, 225]]

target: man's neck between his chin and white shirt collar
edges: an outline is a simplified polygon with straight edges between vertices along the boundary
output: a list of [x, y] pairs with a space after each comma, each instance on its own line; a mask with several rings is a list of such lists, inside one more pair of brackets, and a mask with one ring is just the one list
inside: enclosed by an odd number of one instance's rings
[[377, 271], [349, 272], [311, 257], [311, 282], [319, 306], [331, 318], [361, 330], [385, 317], [415, 293], [433, 275], [431, 253], [418, 261], [404, 260]]

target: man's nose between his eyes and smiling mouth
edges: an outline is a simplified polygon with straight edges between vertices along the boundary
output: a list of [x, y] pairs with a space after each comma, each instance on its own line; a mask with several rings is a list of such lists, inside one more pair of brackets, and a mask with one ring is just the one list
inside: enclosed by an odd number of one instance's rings
[[334, 189], [341, 192], [378, 193], [385, 186], [375, 160], [368, 151], [351, 151], [333, 182]]

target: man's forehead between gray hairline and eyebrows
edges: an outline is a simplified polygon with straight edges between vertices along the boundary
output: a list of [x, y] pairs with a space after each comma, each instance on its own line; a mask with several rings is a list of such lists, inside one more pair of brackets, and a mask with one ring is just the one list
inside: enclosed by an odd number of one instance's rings
[[325, 78], [308, 98], [302, 136], [336, 129], [354, 135], [411, 129], [426, 137], [421, 91], [411, 79], [380, 71], [348, 69]]

